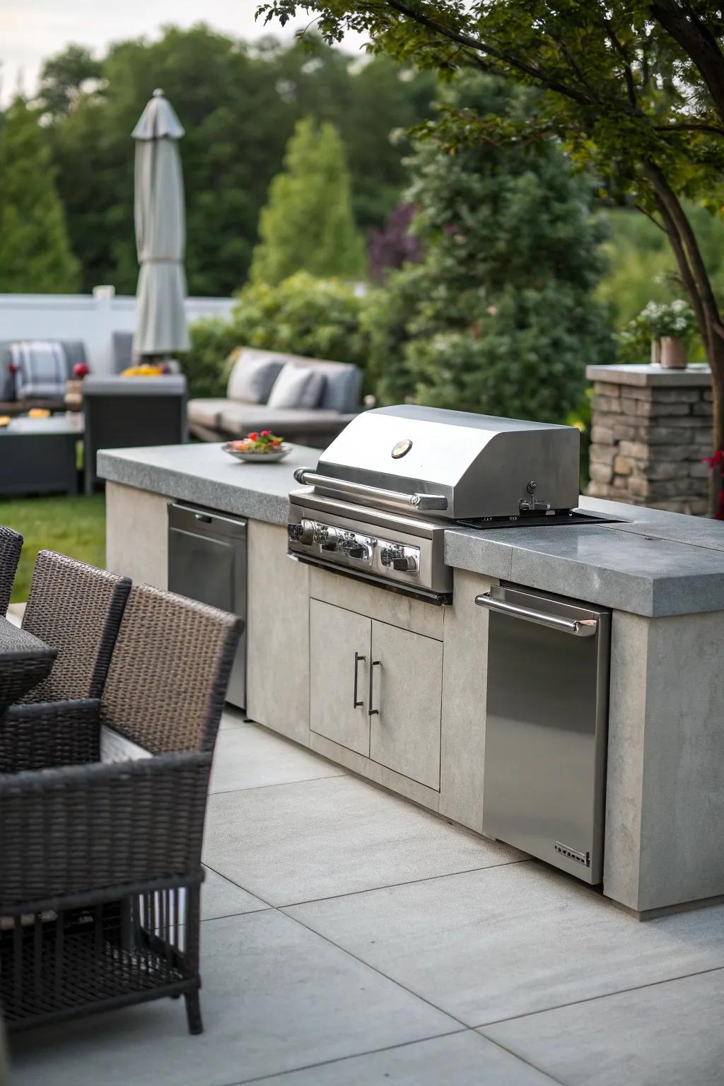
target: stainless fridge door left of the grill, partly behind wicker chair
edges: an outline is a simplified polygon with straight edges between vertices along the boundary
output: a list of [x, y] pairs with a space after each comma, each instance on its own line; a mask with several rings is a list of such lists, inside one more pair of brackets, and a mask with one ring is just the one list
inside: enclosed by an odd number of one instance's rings
[[[168, 589], [246, 621], [246, 521], [168, 506]], [[246, 704], [246, 629], [239, 639], [227, 702]]]

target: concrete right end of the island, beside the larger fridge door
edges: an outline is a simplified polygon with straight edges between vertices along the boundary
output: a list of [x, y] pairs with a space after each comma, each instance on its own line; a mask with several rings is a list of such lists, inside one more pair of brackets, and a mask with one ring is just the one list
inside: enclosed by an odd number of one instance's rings
[[604, 893], [638, 912], [724, 894], [724, 614], [614, 611]]

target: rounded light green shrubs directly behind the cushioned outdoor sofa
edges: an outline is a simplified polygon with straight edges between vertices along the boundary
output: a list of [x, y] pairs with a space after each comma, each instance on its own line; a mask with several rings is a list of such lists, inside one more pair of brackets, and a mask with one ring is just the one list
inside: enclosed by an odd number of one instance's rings
[[226, 359], [237, 346], [366, 365], [364, 301], [336, 279], [297, 272], [277, 286], [249, 283], [230, 320], [198, 320], [182, 368], [190, 396], [224, 396]]

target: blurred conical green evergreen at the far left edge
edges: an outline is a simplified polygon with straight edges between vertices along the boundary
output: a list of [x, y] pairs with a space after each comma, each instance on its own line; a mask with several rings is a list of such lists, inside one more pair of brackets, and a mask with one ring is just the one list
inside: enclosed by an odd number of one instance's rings
[[0, 130], [0, 291], [73, 293], [71, 252], [50, 150], [38, 116], [22, 98]]

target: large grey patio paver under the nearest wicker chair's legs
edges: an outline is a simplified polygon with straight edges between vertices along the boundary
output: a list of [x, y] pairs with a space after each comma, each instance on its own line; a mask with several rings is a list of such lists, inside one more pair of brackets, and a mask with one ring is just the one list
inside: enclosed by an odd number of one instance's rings
[[276, 910], [206, 921], [205, 1032], [177, 1000], [13, 1038], [18, 1086], [226, 1086], [460, 1028]]

